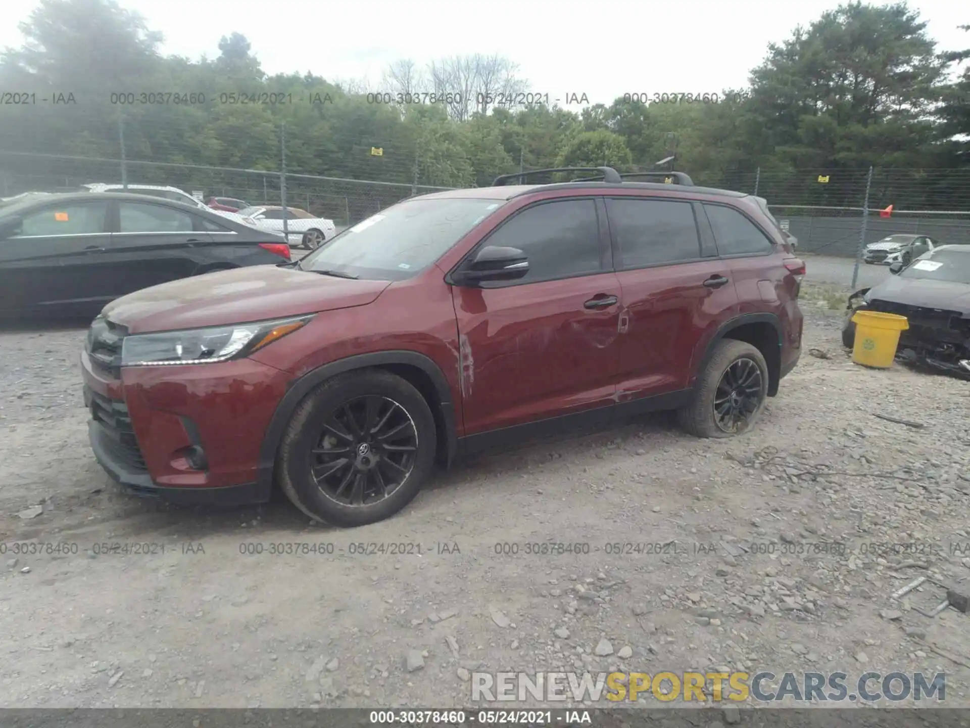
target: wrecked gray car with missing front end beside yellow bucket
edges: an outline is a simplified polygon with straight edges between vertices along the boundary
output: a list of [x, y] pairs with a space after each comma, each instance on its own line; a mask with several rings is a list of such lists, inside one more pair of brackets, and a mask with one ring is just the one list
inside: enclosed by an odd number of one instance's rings
[[940, 246], [849, 297], [842, 344], [852, 348], [859, 309], [906, 316], [896, 359], [970, 380], [970, 246]]

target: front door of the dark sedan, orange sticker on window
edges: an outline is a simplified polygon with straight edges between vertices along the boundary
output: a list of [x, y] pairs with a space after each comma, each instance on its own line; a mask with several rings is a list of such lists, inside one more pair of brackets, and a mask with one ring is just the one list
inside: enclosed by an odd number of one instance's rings
[[108, 203], [45, 204], [0, 240], [0, 310], [87, 314], [103, 305]]

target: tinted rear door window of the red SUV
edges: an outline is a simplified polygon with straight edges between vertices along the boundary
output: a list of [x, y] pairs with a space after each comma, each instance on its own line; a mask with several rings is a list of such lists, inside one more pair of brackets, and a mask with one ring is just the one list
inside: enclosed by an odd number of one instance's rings
[[606, 201], [606, 213], [624, 268], [700, 257], [700, 237], [689, 202], [614, 198]]

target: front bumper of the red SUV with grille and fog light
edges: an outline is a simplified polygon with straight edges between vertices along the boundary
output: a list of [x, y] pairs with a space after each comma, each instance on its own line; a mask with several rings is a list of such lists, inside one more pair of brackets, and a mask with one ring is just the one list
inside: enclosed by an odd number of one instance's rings
[[[258, 478], [259, 449], [289, 374], [241, 359], [126, 367], [115, 376], [86, 351], [81, 373], [88, 440], [113, 480], [178, 503], [269, 500], [272, 480]], [[195, 448], [201, 465], [186, 454]]]

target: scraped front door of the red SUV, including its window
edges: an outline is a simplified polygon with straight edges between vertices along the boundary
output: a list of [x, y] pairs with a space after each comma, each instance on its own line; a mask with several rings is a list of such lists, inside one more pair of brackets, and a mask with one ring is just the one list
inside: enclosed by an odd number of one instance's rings
[[452, 287], [466, 433], [561, 414], [607, 417], [619, 365], [620, 286], [611, 270], [601, 202], [536, 203], [469, 252], [520, 248], [518, 281]]

